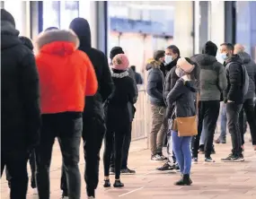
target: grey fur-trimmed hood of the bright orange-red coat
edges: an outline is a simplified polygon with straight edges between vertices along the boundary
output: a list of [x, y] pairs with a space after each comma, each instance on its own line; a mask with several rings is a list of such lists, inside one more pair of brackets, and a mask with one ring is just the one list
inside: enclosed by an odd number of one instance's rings
[[36, 40], [37, 50], [65, 56], [79, 47], [79, 39], [73, 30], [49, 30], [41, 32]]

